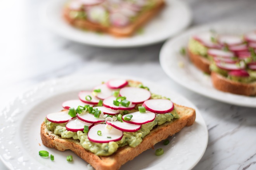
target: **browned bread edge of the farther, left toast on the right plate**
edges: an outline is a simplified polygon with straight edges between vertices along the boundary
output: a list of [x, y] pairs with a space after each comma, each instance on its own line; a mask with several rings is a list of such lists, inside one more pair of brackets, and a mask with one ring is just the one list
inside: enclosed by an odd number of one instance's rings
[[204, 58], [197, 54], [193, 54], [189, 49], [188, 52], [190, 60], [199, 70], [204, 71], [204, 73], [211, 74], [211, 71], [209, 69], [210, 61], [207, 58]]

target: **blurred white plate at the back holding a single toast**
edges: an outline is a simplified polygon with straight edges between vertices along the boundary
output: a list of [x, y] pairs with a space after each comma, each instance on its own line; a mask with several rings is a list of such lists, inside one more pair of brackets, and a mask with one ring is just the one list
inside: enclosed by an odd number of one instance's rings
[[166, 7], [143, 28], [143, 34], [115, 38], [108, 34], [85, 32], [67, 24], [62, 18], [66, 0], [50, 0], [43, 10], [43, 21], [52, 31], [67, 39], [109, 48], [137, 47], [162, 42], [190, 24], [190, 8], [179, 0], [166, 0]]

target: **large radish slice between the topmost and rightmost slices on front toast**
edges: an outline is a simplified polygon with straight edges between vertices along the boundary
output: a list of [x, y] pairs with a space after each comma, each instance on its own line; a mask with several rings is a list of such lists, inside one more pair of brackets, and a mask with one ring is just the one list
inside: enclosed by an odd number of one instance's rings
[[132, 102], [133, 104], [143, 103], [151, 97], [149, 90], [139, 87], [124, 87], [119, 91], [121, 96], [125, 96], [126, 100]]

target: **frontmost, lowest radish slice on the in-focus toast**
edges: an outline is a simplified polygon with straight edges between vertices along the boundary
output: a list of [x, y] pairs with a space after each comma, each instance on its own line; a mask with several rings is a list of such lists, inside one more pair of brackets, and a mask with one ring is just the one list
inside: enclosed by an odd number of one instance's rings
[[[111, 131], [106, 129], [106, 124], [97, 124], [93, 126], [88, 132], [88, 139], [95, 143], [109, 143], [111, 141], [119, 141], [123, 137], [123, 132], [112, 128]], [[98, 131], [101, 131], [101, 135], [98, 135]]]

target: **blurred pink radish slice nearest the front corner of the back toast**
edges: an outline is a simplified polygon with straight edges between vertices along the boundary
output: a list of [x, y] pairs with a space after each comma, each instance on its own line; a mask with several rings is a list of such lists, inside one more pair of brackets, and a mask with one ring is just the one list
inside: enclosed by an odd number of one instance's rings
[[111, 24], [116, 27], [124, 27], [130, 23], [129, 17], [119, 12], [110, 14], [109, 18], [110, 18]]

